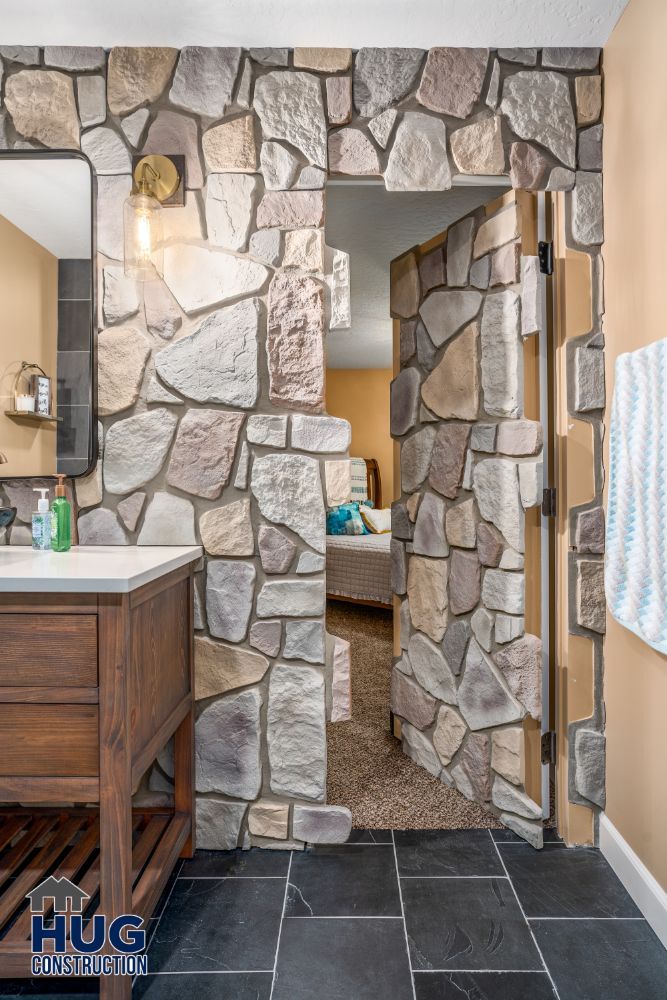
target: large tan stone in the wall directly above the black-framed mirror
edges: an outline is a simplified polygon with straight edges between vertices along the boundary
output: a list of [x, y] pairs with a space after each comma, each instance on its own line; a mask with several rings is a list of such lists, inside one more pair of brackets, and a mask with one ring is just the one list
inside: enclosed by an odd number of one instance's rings
[[52, 148], [79, 148], [74, 84], [64, 73], [21, 70], [5, 84], [5, 107], [16, 131]]

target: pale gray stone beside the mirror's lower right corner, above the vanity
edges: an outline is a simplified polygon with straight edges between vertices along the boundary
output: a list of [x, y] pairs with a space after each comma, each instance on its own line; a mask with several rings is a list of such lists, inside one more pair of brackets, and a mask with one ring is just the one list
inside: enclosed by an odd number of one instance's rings
[[104, 446], [104, 485], [109, 493], [133, 493], [158, 474], [176, 423], [176, 416], [161, 407], [112, 424]]

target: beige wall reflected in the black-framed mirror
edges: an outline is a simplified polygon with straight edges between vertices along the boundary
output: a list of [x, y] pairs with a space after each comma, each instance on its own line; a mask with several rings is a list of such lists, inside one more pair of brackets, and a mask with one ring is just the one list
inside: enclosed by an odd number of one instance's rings
[[58, 259], [0, 216], [0, 476], [56, 471], [56, 425], [17, 421], [12, 389], [22, 361], [40, 365], [56, 387]]

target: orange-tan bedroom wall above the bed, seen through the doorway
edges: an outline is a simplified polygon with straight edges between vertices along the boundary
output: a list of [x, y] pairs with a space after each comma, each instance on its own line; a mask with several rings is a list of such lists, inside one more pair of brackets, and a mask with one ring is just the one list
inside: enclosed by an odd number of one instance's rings
[[389, 434], [390, 368], [328, 368], [327, 413], [352, 425], [350, 454], [376, 458], [382, 502], [394, 499], [394, 443]]

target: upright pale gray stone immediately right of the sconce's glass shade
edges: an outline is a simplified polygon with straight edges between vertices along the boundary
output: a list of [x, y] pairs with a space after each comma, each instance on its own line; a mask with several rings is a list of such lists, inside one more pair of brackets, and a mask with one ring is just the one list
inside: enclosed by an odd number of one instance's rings
[[246, 250], [259, 181], [249, 174], [209, 174], [206, 180], [206, 228], [209, 243], [226, 250]]

